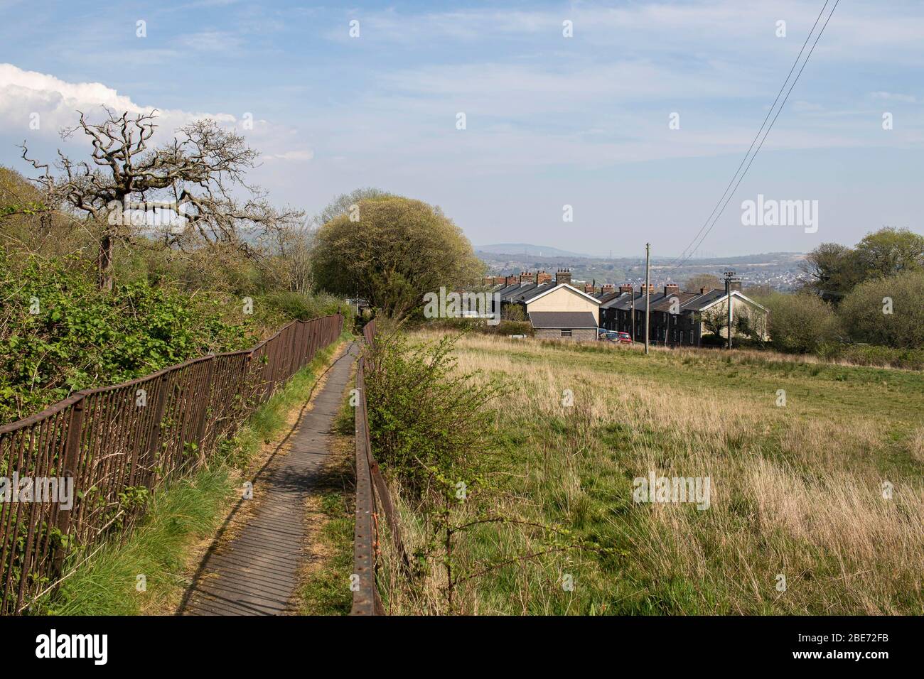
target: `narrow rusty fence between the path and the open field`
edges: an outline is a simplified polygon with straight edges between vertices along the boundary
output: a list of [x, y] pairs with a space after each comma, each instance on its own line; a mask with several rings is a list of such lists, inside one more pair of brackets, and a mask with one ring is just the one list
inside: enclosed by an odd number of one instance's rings
[[356, 421], [356, 527], [353, 540], [353, 606], [350, 615], [383, 615], [384, 607], [375, 583], [379, 564], [379, 508], [388, 522], [388, 532], [395, 546], [398, 563], [407, 574], [409, 563], [401, 531], [395, 515], [391, 493], [378, 463], [372, 456], [369, 437], [369, 410], [366, 402], [367, 354], [375, 347], [375, 321], [366, 324], [362, 331], [366, 352], [359, 357], [356, 371], [356, 389], [359, 394], [355, 411]]

